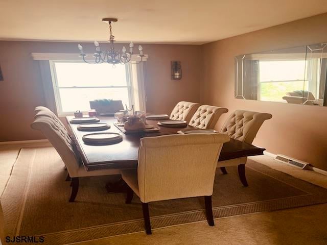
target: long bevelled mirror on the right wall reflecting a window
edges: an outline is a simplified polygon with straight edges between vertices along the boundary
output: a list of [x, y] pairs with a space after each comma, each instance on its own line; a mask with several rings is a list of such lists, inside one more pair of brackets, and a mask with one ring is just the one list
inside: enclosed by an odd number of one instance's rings
[[327, 43], [239, 55], [235, 71], [237, 99], [327, 106]]

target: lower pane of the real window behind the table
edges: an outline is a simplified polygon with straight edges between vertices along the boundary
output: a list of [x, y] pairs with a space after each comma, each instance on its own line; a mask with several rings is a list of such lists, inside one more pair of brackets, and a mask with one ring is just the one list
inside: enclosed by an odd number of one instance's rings
[[127, 88], [60, 88], [59, 93], [63, 112], [87, 111], [89, 101], [99, 99], [121, 100], [129, 106]]

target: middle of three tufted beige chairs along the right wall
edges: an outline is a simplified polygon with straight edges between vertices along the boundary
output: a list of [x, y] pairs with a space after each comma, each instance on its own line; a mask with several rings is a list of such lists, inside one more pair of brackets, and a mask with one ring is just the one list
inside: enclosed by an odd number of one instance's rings
[[219, 117], [226, 112], [227, 108], [202, 105], [194, 113], [189, 125], [200, 129], [214, 129]]

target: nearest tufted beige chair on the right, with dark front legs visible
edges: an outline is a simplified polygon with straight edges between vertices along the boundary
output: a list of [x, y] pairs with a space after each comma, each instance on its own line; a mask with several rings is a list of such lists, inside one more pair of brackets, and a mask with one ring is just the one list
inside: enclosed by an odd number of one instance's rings
[[[272, 117], [269, 113], [260, 113], [254, 111], [237, 110], [227, 118], [221, 133], [228, 134], [230, 138], [252, 144], [253, 139], [258, 133], [261, 125], [265, 120]], [[227, 174], [228, 166], [238, 166], [239, 176], [244, 186], [248, 186], [245, 177], [245, 164], [247, 157], [241, 157], [226, 161], [219, 161], [217, 167], [220, 167], [223, 174]]]

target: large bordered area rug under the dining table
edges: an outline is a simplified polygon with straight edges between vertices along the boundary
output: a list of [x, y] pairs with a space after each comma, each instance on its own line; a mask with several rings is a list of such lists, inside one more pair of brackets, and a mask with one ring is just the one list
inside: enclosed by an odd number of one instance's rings
[[[296, 179], [248, 160], [248, 187], [243, 187], [236, 167], [223, 175], [217, 169], [214, 217], [228, 217], [327, 203], [327, 189]], [[7, 235], [44, 236], [43, 244], [66, 244], [144, 231], [141, 202], [134, 195], [108, 194], [109, 177], [84, 178], [75, 203], [68, 203], [71, 187], [54, 148], [24, 148], [3, 193]], [[205, 220], [203, 198], [150, 203], [152, 228]], [[219, 219], [216, 220], [219, 226]]]

